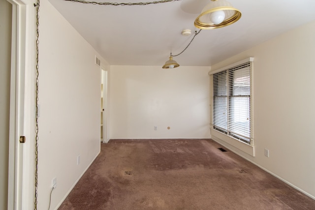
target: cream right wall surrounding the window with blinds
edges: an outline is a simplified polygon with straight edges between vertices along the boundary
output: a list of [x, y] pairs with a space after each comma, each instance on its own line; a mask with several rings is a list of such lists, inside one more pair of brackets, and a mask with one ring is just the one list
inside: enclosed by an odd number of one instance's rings
[[[215, 70], [254, 57], [255, 157], [225, 145], [313, 198], [314, 34], [315, 22], [311, 22], [211, 66]], [[270, 151], [269, 158], [264, 156], [265, 148]]]

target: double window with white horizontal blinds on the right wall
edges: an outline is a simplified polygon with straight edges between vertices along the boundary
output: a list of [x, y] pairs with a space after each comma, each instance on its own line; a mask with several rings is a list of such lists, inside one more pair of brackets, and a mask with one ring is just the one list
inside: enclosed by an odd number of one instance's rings
[[213, 129], [251, 144], [251, 69], [246, 62], [213, 74]]

